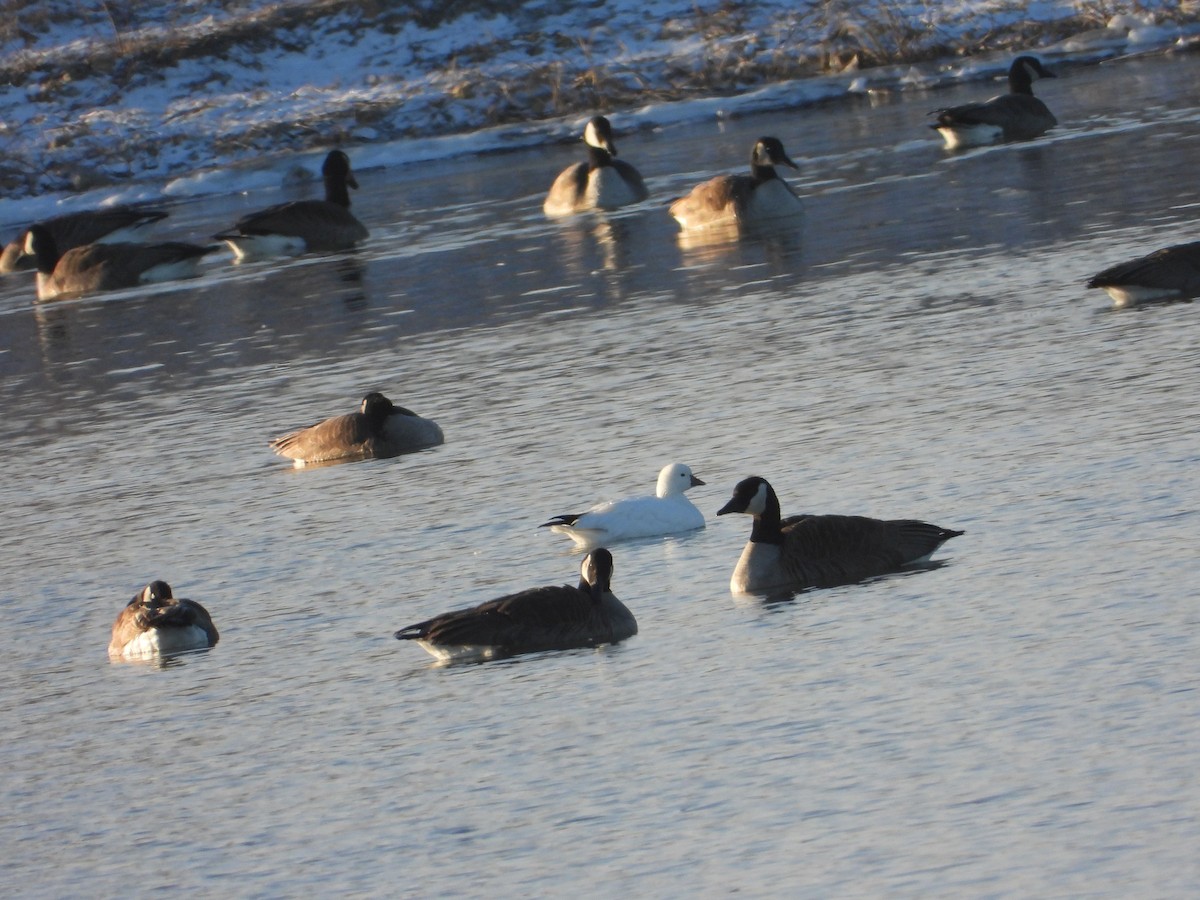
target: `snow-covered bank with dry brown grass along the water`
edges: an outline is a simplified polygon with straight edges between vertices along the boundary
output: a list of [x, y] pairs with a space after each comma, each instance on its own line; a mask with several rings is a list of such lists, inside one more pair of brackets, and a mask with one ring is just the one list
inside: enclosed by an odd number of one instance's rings
[[1106, 22], [1062, 0], [30, 2], [0, 32], [5, 224], [274, 186], [335, 144], [361, 170], [574, 139], [594, 112], [665, 127], [1200, 32], [1178, 0]]

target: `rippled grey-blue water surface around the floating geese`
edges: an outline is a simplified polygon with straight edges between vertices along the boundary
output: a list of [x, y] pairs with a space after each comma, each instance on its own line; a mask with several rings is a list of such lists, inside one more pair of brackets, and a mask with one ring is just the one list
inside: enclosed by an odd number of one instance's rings
[[[964, 85], [626, 134], [655, 199], [611, 217], [541, 217], [578, 155], [550, 148], [360, 173], [347, 257], [46, 305], [6, 280], [4, 883], [1195, 895], [1198, 312], [1082, 281], [1196, 238], [1200, 60], [1064, 74], [1030, 145], [948, 157], [924, 114], [994, 90]], [[762, 133], [803, 230], [682, 245], [666, 199]], [[445, 445], [268, 450], [370, 389]], [[635, 638], [458, 667], [392, 640], [574, 581], [536, 526], [671, 460], [709, 526], [613, 547]], [[966, 534], [931, 571], [734, 598], [749, 522], [713, 514], [749, 474], [785, 512]], [[109, 664], [156, 577], [221, 643]]]

